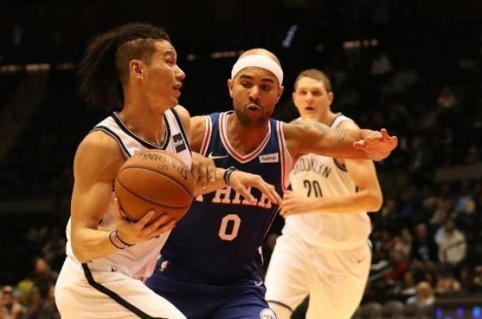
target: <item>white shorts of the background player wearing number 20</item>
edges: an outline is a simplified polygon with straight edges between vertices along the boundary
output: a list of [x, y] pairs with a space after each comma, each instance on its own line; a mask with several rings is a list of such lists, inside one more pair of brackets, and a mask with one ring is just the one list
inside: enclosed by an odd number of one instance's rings
[[266, 300], [293, 311], [309, 294], [306, 319], [349, 319], [362, 301], [370, 263], [368, 242], [360, 248], [332, 250], [310, 248], [282, 235], [266, 273]]

